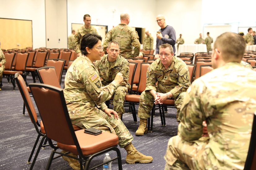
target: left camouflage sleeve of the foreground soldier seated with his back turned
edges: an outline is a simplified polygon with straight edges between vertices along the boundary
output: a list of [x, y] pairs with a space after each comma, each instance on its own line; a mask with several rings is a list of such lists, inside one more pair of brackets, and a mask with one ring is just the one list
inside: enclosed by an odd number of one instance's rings
[[179, 135], [184, 140], [197, 140], [203, 134], [202, 123], [205, 120], [205, 114], [202, 107], [207, 106], [202, 106], [201, 100], [205, 100], [204, 96], [207, 96], [205, 91], [206, 87], [203, 82], [193, 83], [187, 90], [180, 109], [179, 119], [181, 122], [178, 126]]

